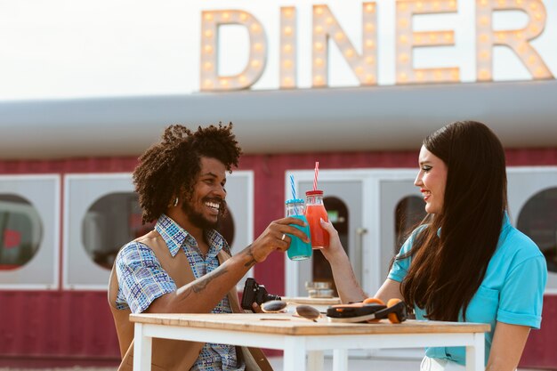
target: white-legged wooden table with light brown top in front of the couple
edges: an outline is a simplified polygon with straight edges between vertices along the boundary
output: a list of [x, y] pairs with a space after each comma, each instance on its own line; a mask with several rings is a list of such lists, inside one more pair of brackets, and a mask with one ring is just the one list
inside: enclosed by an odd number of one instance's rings
[[325, 317], [313, 322], [287, 313], [131, 314], [130, 320], [135, 323], [134, 371], [150, 369], [153, 337], [282, 350], [285, 371], [319, 369], [322, 362], [306, 364], [306, 354], [316, 351], [333, 350], [333, 369], [347, 371], [349, 349], [465, 346], [466, 370], [480, 371], [489, 331], [489, 325], [456, 322], [353, 324]]

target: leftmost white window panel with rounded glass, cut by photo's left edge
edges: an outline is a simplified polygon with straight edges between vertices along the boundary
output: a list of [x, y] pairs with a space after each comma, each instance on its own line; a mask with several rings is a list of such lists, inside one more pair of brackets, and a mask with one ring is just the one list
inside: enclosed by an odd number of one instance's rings
[[60, 181], [58, 174], [0, 175], [0, 289], [58, 288]]

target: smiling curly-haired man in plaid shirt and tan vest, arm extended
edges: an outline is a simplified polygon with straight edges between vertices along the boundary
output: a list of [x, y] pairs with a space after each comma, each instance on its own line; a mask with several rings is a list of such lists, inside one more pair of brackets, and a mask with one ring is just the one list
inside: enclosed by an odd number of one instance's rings
[[[232, 124], [194, 133], [170, 125], [141, 155], [133, 171], [142, 221], [155, 229], [123, 246], [109, 281], [109, 303], [122, 354], [120, 370], [133, 367], [133, 313], [230, 313], [241, 311], [236, 285], [273, 251], [286, 251], [287, 234], [307, 241], [298, 219], [271, 222], [254, 242], [230, 256], [215, 230], [226, 209], [226, 173], [241, 149]], [[254, 311], [258, 308], [254, 306]], [[153, 339], [153, 369], [268, 370], [261, 350], [217, 343]]]

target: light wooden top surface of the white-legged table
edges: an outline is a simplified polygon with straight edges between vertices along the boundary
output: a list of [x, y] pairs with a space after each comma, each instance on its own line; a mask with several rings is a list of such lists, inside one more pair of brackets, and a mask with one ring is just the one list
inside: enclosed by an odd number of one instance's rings
[[278, 335], [435, 334], [489, 331], [488, 324], [410, 319], [395, 325], [386, 319], [382, 319], [378, 323], [329, 322], [325, 316], [321, 316], [317, 322], [313, 322], [291, 313], [140, 313], [131, 314], [130, 320], [142, 324], [213, 328]]

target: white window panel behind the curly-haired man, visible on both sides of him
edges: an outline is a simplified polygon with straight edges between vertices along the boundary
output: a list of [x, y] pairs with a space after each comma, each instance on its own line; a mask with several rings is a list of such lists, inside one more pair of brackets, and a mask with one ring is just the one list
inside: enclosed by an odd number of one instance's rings
[[[156, 221], [141, 224], [131, 173], [64, 178], [63, 287], [106, 290], [118, 250], [152, 230]], [[236, 254], [253, 241], [253, 173], [234, 172], [226, 186], [234, 196], [227, 199], [229, 214], [218, 230]]]

